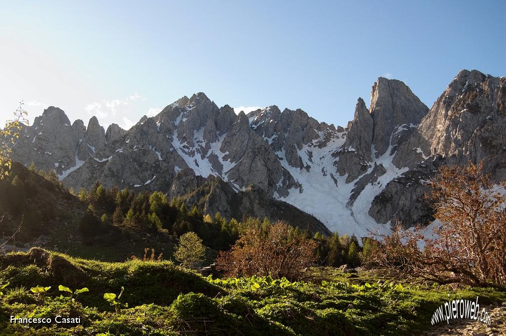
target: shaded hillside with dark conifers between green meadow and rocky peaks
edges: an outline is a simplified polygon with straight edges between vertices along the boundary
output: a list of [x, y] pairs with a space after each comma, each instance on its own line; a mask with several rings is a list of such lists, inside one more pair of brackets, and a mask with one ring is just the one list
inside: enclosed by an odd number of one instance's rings
[[[142, 256], [146, 248], [170, 259], [178, 238], [193, 231], [203, 240], [207, 262], [212, 263], [218, 251], [227, 251], [235, 244], [245, 227], [271, 223], [267, 218], [246, 216], [240, 221], [227, 220], [219, 212], [203, 215], [196, 206], [188, 209], [184, 199], [169, 200], [160, 191], [136, 193], [96, 183], [90, 191], [82, 188], [76, 192], [64, 187], [53, 170], [37, 171], [34, 165], [25, 168], [16, 162], [9, 176], [0, 180], [0, 193], [11, 196], [0, 199], [4, 236], [19, 229], [14, 236], [18, 246], [45, 246], [73, 256], [110, 261]], [[290, 230], [317, 243], [318, 263], [360, 264], [362, 242], [354, 235], [315, 233], [297, 226]], [[368, 239], [365, 242], [367, 245]]]

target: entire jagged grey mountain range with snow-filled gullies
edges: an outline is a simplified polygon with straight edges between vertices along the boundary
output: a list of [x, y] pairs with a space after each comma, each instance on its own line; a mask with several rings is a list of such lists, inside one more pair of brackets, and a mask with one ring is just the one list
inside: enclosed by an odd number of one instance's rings
[[[86, 129], [80, 121], [70, 126], [63, 111], [49, 108], [23, 130], [13, 157], [54, 168], [74, 189], [99, 180], [183, 196], [193, 189], [171, 188], [186, 178], [178, 172], [191, 169], [228, 183], [226, 200], [245, 191], [244, 201], [253, 186], [262, 200], [291, 204], [330, 230], [388, 232], [396, 219], [406, 226], [432, 220], [423, 181], [441, 164], [484, 159], [487, 172], [503, 178], [505, 81], [462, 70], [429, 111], [403, 82], [378, 78], [369, 109], [359, 99], [346, 128], [276, 106], [236, 115], [201, 92], [128, 131], [111, 125], [104, 132], [93, 118]], [[248, 206], [273, 213], [273, 203], [259, 200]], [[232, 215], [228, 201], [206, 202], [209, 212]]]

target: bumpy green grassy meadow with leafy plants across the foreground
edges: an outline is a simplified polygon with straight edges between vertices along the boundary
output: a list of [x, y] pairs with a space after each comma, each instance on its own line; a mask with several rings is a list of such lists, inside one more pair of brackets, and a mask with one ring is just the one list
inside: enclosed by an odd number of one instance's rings
[[[399, 285], [395, 279], [377, 283], [375, 272], [349, 279], [334, 268], [317, 269], [315, 274], [309, 282], [213, 279], [171, 262], [109, 263], [41, 250], [12, 253], [0, 259], [0, 283], [10, 281], [0, 297], [0, 330], [6, 335], [34, 331], [48, 335], [401, 335], [427, 329], [434, 310], [444, 301], [476, 296], [483, 304], [506, 301], [506, 293], [497, 289]], [[60, 297], [59, 284], [90, 291], [70, 301]], [[52, 288], [47, 295], [27, 292], [36, 285]], [[116, 314], [103, 294], [118, 294], [121, 286], [125, 291], [120, 302], [128, 308]], [[81, 324], [25, 328], [10, 324], [10, 315], [80, 316]]]

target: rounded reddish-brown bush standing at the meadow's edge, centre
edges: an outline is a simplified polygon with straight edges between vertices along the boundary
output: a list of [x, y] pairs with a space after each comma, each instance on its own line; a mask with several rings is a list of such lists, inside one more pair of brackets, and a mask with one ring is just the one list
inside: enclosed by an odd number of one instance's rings
[[248, 227], [230, 251], [220, 252], [217, 268], [226, 276], [272, 276], [298, 280], [315, 261], [316, 242], [279, 221]]

